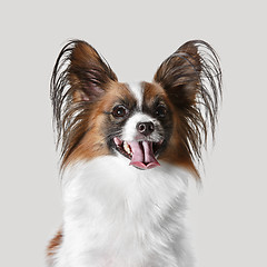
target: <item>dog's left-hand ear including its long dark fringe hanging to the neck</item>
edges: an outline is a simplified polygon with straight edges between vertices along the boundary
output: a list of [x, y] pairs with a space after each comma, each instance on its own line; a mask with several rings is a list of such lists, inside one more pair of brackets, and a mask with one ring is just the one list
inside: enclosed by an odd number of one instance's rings
[[110, 81], [117, 81], [116, 75], [90, 44], [72, 40], [62, 48], [50, 93], [63, 162], [87, 131], [83, 119]]

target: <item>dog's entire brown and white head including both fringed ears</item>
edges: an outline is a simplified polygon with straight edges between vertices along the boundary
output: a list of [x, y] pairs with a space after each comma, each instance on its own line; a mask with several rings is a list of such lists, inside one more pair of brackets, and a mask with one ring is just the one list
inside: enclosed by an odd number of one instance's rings
[[[63, 165], [115, 155], [142, 170], [164, 160], [197, 172], [194, 154], [205, 142], [200, 132], [207, 134], [197, 105], [202, 101], [214, 126], [220, 91], [212, 67], [188, 42], [162, 62], [152, 82], [121, 83], [91, 46], [68, 43], [51, 80]], [[211, 93], [201, 83], [204, 70]]]

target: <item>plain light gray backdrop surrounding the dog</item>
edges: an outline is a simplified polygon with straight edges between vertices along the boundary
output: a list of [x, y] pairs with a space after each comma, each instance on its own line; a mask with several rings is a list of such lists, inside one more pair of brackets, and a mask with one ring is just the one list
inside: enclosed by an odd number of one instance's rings
[[61, 222], [49, 79], [71, 38], [96, 47], [121, 81], [150, 81], [187, 40], [215, 47], [224, 107], [202, 189], [189, 190], [198, 266], [267, 266], [264, 1], [96, 2], [1, 3], [0, 266], [44, 266]]

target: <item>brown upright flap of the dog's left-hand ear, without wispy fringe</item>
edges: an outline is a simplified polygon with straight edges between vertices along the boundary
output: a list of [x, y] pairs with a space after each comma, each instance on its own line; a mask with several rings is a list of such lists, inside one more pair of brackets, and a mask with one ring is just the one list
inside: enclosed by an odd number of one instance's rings
[[93, 101], [102, 95], [107, 85], [117, 77], [99, 53], [85, 41], [72, 41], [69, 51], [67, 80], [73, 101]]

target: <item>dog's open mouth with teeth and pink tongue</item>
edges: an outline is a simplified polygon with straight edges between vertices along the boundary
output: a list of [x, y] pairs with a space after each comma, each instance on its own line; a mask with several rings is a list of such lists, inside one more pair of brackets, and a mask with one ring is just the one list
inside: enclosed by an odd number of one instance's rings
[[117, 151], [130, 159], [130, 165], [144, 170], [160, 166], [156, 156], [162, 141], [123, 141], [118, 137], [113, 138]]

